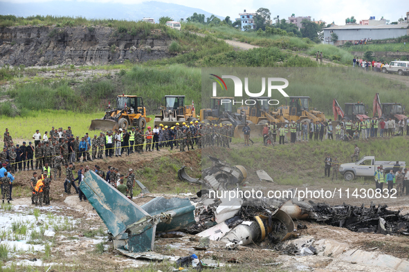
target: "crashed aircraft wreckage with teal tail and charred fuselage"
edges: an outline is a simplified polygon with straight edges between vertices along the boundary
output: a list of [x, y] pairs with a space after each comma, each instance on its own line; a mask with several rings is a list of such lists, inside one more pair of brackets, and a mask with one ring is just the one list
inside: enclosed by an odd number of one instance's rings
[[[184, 168], [179, 177], [215, 191], [233, 189], [246, 180], [244, 167], [210, 159], [212, 166], [203, 170], [203, 180], [189, 177]], [[210, 198], [206, 189], [199, 191], [198, 197], [169, 200], [156, 197], [138, 206], [92, 171], [87, 172], [80, 188], [109, 229], [115, 249], [132, 258], [164, 260], [163, 255], [143, 252], [153, 251], [155, 234], [172, 231], [221, 241], [230, 249], [266, 238], [278, 243], [297, 231], [293, 219], [323, 222], [352, 231], [409, 233], [408, 215], [388, 211], [386, 206], [329, 206], [275, 198], [229, 200]]]

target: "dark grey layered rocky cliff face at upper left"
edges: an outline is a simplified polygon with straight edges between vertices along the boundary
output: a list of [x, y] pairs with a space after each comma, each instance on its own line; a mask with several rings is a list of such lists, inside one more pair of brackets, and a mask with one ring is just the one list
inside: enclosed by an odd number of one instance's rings
[[0, 66], [24, 64], [97, 65], [170, 57], [170, 38], [161, 30], [145, 35], [118, 33], [116, 28], [0, 28]]

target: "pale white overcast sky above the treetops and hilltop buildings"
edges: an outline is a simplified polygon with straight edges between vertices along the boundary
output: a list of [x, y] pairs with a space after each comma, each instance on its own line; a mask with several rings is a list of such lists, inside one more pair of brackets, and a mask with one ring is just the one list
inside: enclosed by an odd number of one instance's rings
[[[46, 2], [47, 0], [2, 0], [12, 3], [26, 2]], [[69, 1], [69, 0], [65, 0]], [[95, 1], [95, 0], [87, 0]], [[98, 0], [95, 2], [121, 2], [140, 3], [143, 0]], [[354, 16], [359, 22], [360, 19], [369, 19], [375, 16], [376, 19], [384, 17], [390, 21], [397, 21], [402, 16], [405, 17], [409, 11], [409, 3], [404, 1], [385, 0], [157, 0], [167, 3], [177, 3], [192, 8], [201, 8], [222, 17], [230, 16], [237, 18], [239, 12], [255, 12], [258, 8], [268, 8], [272, 17], [280, 15], [280, 19], [287, 19], [292, 13], [296, 16], [311, 16], [311, 19], [322, 19], [327, 23], [335, 21], [337, 25], [345, 24], [347, 17]], [[75, 14], [73, 14], [75, 15]]]

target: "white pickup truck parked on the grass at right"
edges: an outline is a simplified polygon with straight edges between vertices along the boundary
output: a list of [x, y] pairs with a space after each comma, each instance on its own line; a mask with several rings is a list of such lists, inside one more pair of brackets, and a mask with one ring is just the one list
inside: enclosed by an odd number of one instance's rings
[[[393, 168], [397, 161], [375, 161], [374, 156], [363, 156], [358, 162], [341, 164], [339, 173], [344, 176], [345, 180], [352, 180], [354, 177], [371, 177], [379, 166], [383, 166], [385, 173]], [[399, 162], [401, 168], [405, 168], [406, 162]]]

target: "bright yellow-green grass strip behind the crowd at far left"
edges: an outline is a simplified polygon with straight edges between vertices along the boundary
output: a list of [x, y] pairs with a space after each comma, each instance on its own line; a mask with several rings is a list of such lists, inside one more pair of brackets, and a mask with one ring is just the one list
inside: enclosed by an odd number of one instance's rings
[[[92, 138], [93, 135], [100, 135], [100, 130], [89, 130], [92, 119], [102, 118], [104, 113], [74, 113], [68, 110], [39, 110], [31, 111], [30, 115], [26, 117], [6, 117], [0, 116], [0, 131], [1, 139], [3, 139], [3, 132], [8, 128], [10, 136], [15, 140], [15, 144], [21, 144], [23, 140], [32, 140], [35, 130], [44, 135], [45, 131], [50, 131], [51, 127], [68, 128], [71, 126], [75, 136], [84, 136], [89, 133]], [[154, 115], [152, 121], [148, 123], [153, 125]], [[28, 144], [28, 143], [27, 143]]]

